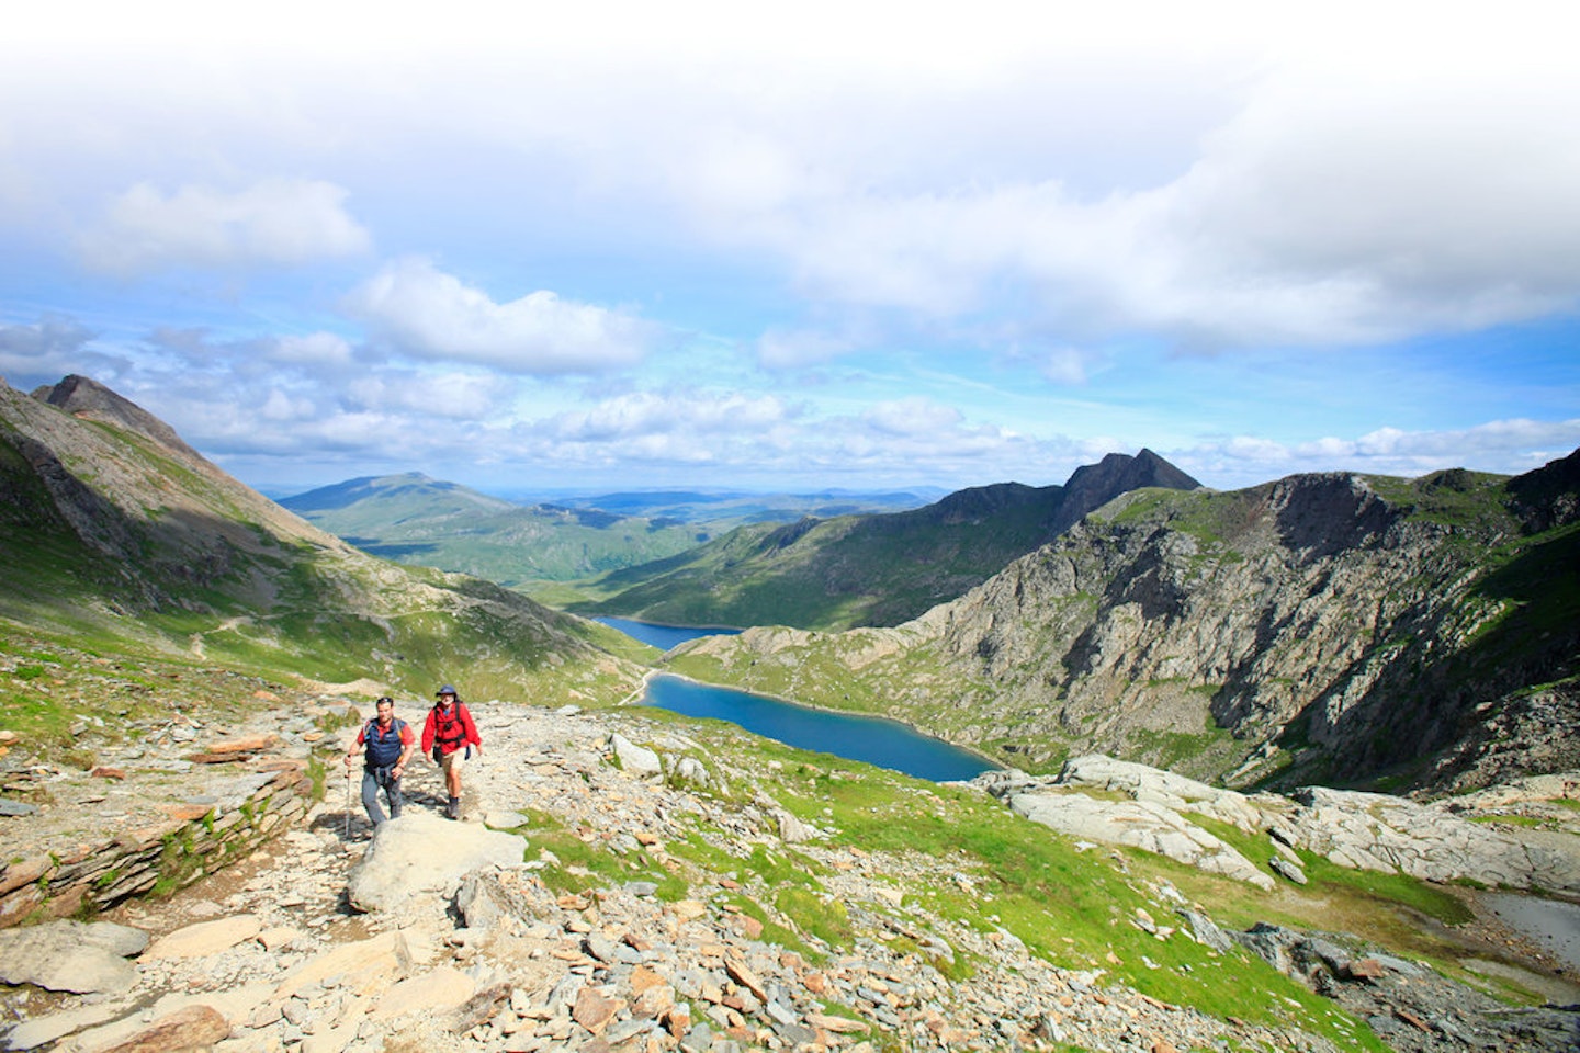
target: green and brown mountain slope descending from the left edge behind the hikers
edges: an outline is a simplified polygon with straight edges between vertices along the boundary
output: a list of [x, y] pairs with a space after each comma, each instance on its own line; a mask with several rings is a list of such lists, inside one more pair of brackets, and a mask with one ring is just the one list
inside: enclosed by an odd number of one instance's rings
[[[629, 691], [602, 627], [374, 559], [248, 489], [115, 392], [0, 382], [0, 627], [427, 696]], [[615, 646], [615, 644], [611, 644]]]

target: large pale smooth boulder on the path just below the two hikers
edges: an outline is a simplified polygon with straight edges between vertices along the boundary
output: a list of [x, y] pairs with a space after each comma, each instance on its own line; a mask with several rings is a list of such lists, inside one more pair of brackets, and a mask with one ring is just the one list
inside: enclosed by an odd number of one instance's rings
[[417, 892], [453, 895], [472, 870], [521, 865], [526, 841], [477, 823], [447, 823], [406, 811], [379, 824], [362, 862], [351, 871], [351, 906], [397, 909]]

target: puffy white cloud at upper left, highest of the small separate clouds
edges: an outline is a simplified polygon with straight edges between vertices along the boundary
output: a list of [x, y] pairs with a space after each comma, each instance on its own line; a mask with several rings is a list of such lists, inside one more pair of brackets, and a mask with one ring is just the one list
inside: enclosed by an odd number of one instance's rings
[[346, 213], [346, 196], [321, 180], [264, 180], [232, 193], [188, 183], [169, 196], [137, 183], [109, 204], [77, 249], [90, 267], [118, 275], [356, 256], [371, 238]]

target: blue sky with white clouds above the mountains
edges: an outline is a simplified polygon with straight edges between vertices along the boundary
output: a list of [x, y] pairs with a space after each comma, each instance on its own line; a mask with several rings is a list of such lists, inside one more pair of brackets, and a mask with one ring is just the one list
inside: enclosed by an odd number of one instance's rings
[[1580, 447], [1558, 3], [44, 6], [0, 38], [0, 376], [265, 493]]

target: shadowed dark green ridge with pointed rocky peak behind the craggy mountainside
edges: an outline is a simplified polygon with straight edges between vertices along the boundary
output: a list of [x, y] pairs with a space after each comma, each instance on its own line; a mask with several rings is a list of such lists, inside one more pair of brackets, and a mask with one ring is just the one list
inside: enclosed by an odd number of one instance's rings
[[953, 600], [1131, 489], [1194, 489], [1150, 450], [1111, 453], [1065, 486], [999, 483], [924, 508], [757, 524], [667, 560], [607, 575], [589, 614], [673, 625], [897, 625]]

